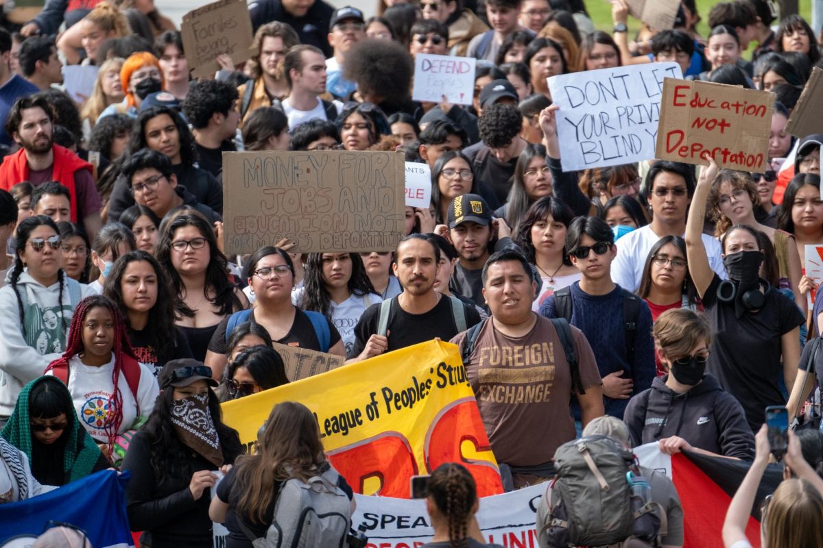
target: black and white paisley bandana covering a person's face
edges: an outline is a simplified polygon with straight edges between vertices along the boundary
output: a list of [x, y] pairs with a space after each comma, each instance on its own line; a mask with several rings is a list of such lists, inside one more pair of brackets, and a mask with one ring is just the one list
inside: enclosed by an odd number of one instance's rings
[[223, 451], [208, 408], [208, 394], [192, 395], [172, 402], [171, 422], [180, 440], [217, 467], [223, 465]]

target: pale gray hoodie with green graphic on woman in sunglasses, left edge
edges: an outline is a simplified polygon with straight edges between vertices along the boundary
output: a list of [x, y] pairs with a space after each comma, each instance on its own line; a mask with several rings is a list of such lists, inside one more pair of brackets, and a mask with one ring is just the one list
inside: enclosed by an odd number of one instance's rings
[[[25, 270], [17, 280], [17, 291], [25, 292], [26, 310], [21, 325], [20, 305], [12, 288], [11, 271], [0, 288], [0, 417], [14, 411], [17, 396], [26, 383], [43, 375], [46, 366], [63, 355], [69, 325], [77, 302], [63, 273], [63, 300], [58, 302], [60, 284], [45, 287]], [[72, 283], [76, 283], [72, 280]], [[93, 295], [87, 285], [79, 284], [81, 297]], [[65, 318], [65, 329], [63, 321]]]

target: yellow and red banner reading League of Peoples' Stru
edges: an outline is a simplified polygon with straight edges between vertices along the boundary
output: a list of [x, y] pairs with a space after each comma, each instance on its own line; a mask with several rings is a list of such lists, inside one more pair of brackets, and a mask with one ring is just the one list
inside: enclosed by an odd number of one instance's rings
[[356, 493], [409, 498], [409, 479], [463, 463], [480, 496], [503, 492], [457, 346], [433, 340], [224, 403], [253, 452], [279, 402], [314, 412], [332, 465]]

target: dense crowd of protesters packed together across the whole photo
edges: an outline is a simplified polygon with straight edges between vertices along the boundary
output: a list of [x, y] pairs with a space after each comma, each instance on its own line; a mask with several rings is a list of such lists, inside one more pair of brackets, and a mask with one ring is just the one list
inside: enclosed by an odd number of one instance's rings
[[[581, 435], [741, 459], [723, 541], [749, 546], [765, 407], [820, 417], [823, 371], [802, 348], [823, 311], [805, 271], [823, 245], [823, 125], [786, 126], [823, 64], [821, 29], [773, 0], [683, 0], [672, 29], [636, 32], [626, 0], [607, 29], [582, 0], [380, 0], [368, 19], [253, 0], [252, 58], [193, 80], [151, 0], [79, 5], [0, 21], [0, 502], [118, 467], [145, 546], [212, 546], [212, 520], [251, 546], [290, 477], [328, 472], [299, 403], [272, 410], [253, 456], [221, 420], [221, 402], [289, 382], [272, 343], [349, 364], [439, 338], [460, 349], [507, 489], [554, 477]], [[472, 104], [413, 100], [420, 53], [476, 58]], [[769, 168], [563, 171], [546, 78], [666, 61], [775, 95]], [[67, 65], [99, 67], [81, 103]], [[235, 150], [402, 150], [429, 166], [431, 204], [407, 207], [393, 252], [284, 240], [226, 256]], [[770, 548], [823, 546], [823, 444], [799, 447], [789, 435]], [[425, 546], [485, 546], [475, 489], [459, 465], [434, 472]], [[682, 546], [666, 500], [663, 544]]]

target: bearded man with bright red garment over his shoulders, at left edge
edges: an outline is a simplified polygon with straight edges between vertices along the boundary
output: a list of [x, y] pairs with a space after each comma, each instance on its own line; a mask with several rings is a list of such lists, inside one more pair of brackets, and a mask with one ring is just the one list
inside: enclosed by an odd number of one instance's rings
[[35, 187], [57, 181], [71, 195], [72, 221], [87, 234], [100, 230], [100, 195], [91, 177], [91, 163], [52, 142], [53, 112], [41, 94], [17, 99], [6, 121], [6, 132], [21, 146], [0, 165], [0, 188], [10, 190], [21, 181]]

